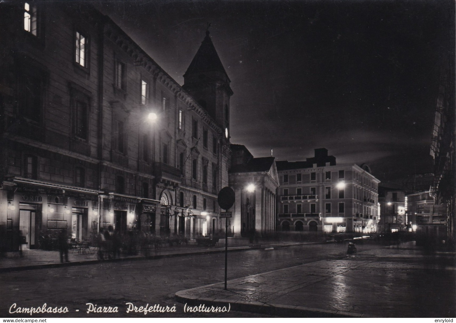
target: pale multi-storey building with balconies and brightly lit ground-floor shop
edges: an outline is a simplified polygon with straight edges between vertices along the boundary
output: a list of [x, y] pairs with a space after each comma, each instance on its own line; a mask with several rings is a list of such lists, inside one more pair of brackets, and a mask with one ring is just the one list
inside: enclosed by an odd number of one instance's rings
[[280, 231], [376, 232], [378, 183], [367, 165], [336, 165], [326, 148], [302, 162], [276, 162]]

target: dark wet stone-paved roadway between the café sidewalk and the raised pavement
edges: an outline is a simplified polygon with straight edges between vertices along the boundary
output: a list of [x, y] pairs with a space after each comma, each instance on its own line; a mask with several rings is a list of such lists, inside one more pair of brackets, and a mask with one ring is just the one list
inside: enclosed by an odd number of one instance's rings
[[[381, 249], [376, 241], [357, 245], [358, 250]], [[268, 248], [269, 249], [269, 248]], [[346, 244], [317, 244], [253, 249], [228, 253], [228, 279], [307, 264], [319, 260], [344, 259]], [[53, 252], [58, 256], [58, 252]], [[56, 257], [57, 258], [57, 257]], [[10, 306], [68, 307], [67, 314], [33, 317], [270, 317], [255, 313], [183, 313], [184, 303], [176, 302], [179, 290], [223, 281], [224, 254], [183, 255], [160, 259], [96, 262], [84, 266], [62, 266], [0, 274], [0, 317], [23, 317], [8, 313]], [[137, 306], [176, 305], [176, 313], [125, 313], [126, 303]], [[119, 313], [87, 314], [87, 303], [118, 306]], [[79, 312], [76, 310], [79, 309]]]

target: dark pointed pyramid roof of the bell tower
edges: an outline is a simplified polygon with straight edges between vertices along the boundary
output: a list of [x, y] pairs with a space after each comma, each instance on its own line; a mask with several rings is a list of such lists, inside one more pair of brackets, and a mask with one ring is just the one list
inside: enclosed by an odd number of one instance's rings
[[193, 57], [192, 63], [190, 63], [190, 66], [187, 68], [187, 72], [185, 72], [184, 78], [189, 74], [204, 72], [222, 72], [227, 78], [225, 81], [228, 81], [228, 83], [231, 82], [225, 68], [223, 68], [220, 58], [218, 57], [214, 44], [212, 44], [208, 30], [206, 31], [206, 37], [204, 37], [201, 42], [198, 52], [195, 57]]

